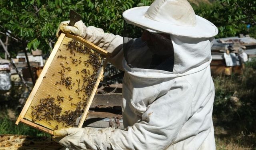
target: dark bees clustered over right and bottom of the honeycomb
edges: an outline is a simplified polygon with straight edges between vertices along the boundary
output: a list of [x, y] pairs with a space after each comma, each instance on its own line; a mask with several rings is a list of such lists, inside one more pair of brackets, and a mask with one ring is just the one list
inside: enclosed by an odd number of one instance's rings
[[[56, 81], [55, 85], [60, 85], [66, 87], [67, 90], [74, 90], [77, 94], [77, 97], [68, 96], [57, 96], [56, 98], [51, 97], [50, 95], [47, 98], [42, 98], [40, 104], [37, 106], [32, 106], [32, 122], [36, 120], [46, 120], [48, 124], [51, 124], [49, 121], [56, 120], [57, 122], [62, 123], [62, 126], [65, 127], [75, 127], [77, 118], [83, 113], [83, 110], [87, 104], [88, 97], [92, 93], [94, 88], [98, 70], [101, 67], [101, 59], [99, 54], [90, 50], [90, 48], [84, 46], [83, 44], [77, 42], [76, 40], [71, 40], [68, 44], [63, 44], [67, 47], [71, 54], [69, 58], [66, 56], [59, 55], [57, 58], [62, 59], [60, 63], [61, 70], [58, 72], [60, 74], [60, 80]], [[60, 50], [60, 49], [59, 49]], [[61, 51], [61, 50], [60, 50]], [[86, 61], [76, 59], [76, 54], [87, 54], [89, 59]], [[74, 58], [73, 58], [74, 57]], [[68, 61], [70, 60], [70, 61]], [[84, 68], [92, 66], [93, 72], [90, 72], [88, 69], [76, 70], [76, 76], [80, 76], [79, 79], [72, 79], [72, 77], [67, 76], [66, 73], [72, 71], [74, 68], [68, 67], [69, 64], [74, 66], [84, 64]], [[54, 76], [55, 74], [52, 74]], [[82, 77], [82, 78], [81, 78]], [[82, 80], [81, 80], [81, 79]], [[60, 91], [62, 91], [59, 88]], [[80, 102], [73, 103], [74, 98], [80, 99]], [[76, 106], [76, 110], [71, 111], [67, 110], [62, 112], [61, 103], [66, 100], [70, 101], [71, 106]], [[58, 129], [58, 125], [55, 126], [55, 130]]]

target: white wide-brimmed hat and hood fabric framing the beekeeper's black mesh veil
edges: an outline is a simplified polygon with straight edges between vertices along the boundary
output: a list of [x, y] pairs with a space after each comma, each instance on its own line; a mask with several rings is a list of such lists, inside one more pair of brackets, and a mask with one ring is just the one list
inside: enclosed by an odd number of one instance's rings
[[[198, 72], [211, 62], [210, 48], [218, 29], [208, 20], [195, 15], [187, 0], [156, 0], [151, 6], [136, 7], [123, 13], [124, 20], [154, 33], [169, 34], [174, 49], [174, 67], [172, 72], [129, 68], [143, 76], [152, 74], [162, 77], [183, 76]], [[140, 50], [141, 51], [141, 50]], [[133, 52], [136, 52], [134, 50]], [[137, 54], [134, 54], [138, 56]], [[157, 75], [158, 74], [158, 75]]]

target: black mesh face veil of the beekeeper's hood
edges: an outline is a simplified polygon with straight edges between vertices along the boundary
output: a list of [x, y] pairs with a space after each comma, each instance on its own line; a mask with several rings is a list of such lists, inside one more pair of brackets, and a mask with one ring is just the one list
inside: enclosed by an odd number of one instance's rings
[[[137, 38], [128, 38], [136, 31]], [[124, 58], [133, 68], [173, 71], [174, 51], [168, 34], [152, 33], [124, 22]]]

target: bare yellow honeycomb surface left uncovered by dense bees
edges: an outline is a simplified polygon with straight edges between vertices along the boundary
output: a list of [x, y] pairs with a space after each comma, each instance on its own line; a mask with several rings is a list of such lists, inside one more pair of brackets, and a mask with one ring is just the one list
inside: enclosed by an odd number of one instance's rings
[[[76, 110], [75, 104], [81, 102], [82, 98], [89, 98], [89, 95], [86, 95], [83, 92], [76, 92], [76, 90], [81, 88], [82, 86], [83, 74], [81, 73], [81, 71], [86, 69], [86, 72], [92, 75], [94, 72], [94, 67], [89, 63], [84, 63], [86, 62], [86, 60], [89, 60], [89, 54], [83, 54], [78, 52], [70, 54], [70, 50], [67, 50], [66, 44], [68, 44], [68, 42], [70, 42], [71, 40], [71, 38], [67, 37], [63, 39], [62, 43], [60, 44], [59, 50], [56, 52], [56, 55], [54, 56], [54, 59], [52, 60], [46, 74], [44, 75], [44, 78], [38, 90], [36, 91], [36, 94], [28, 108], [28, 111], [24, 116], [25, 119], [30, 120], [31, 122], [35, 122], [36, 124], [40, 124], [51, 130], [56, 129], [56, 126], [58, 126], [58, 129], [64, 128], [65, 125], [63, 126], [62, 122], [57, 122], [56, 120], [38, 119], [32, 121], [32, 111], [36, 111], [34, 110], [34, 108], [40, 105], [40, 100], [42, 98], [55, 98], [54, 103], [57, 105], [60, 104], [60, 107], [62, 108], [61, 114], [64, 114], [64, 112], [67, 110]], [[74, 59], [77, 60], [75, 63]], [[63, 68], [68, 69], [65, 69], [66, 71], [64, 72]], [[71, 77], [70, 80], [72, 88], [70, 86], [66, 87], [65, 85], [56, 84], [56, 82], [60, 82], [62, 76], [60, 70], [62, 70], [62, 73], [65, 74], [65, 78]], [[80, 87], [78, 87], [78, 82], [80, 82]], [[86, 82], [84, 83], [85, 86], [88, 86], [87, 84], [88, 83]], [[63, 97], [63, 101], [58, 101], [58, 96]], [[72, 97], [72, 100], [70, 100], [70, 97]]]

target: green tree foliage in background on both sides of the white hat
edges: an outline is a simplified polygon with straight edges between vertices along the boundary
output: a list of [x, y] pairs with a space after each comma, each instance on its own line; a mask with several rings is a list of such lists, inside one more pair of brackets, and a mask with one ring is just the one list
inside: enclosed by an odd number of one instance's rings
[[[11, 50], [39, 48], [48, 52], [56, 41], [60, 22], [69, 20], [70, 9], [82, 15], [86, 26], [103, 28], [105, 32], [121, 34], [122, 12], [136, 6], [148, 6], [154, 0], [1, 0], [0, 32], [12, 32], [18, 41]], [[212, 4], [194, 6], [202, 16], [218, 29], [217, 37], [239, 33], [256, 36], [255, 0], [215, 0]], [[250, 28], [246, 28], [250, 24]], [[134, 34], [134, 30], [131, 34]], [[0, 35], [0, 38], [3, 35]], [[12, 42], [12, 43], [13, 43]], [[9, 48], [10, 49], [10, 48]]]

